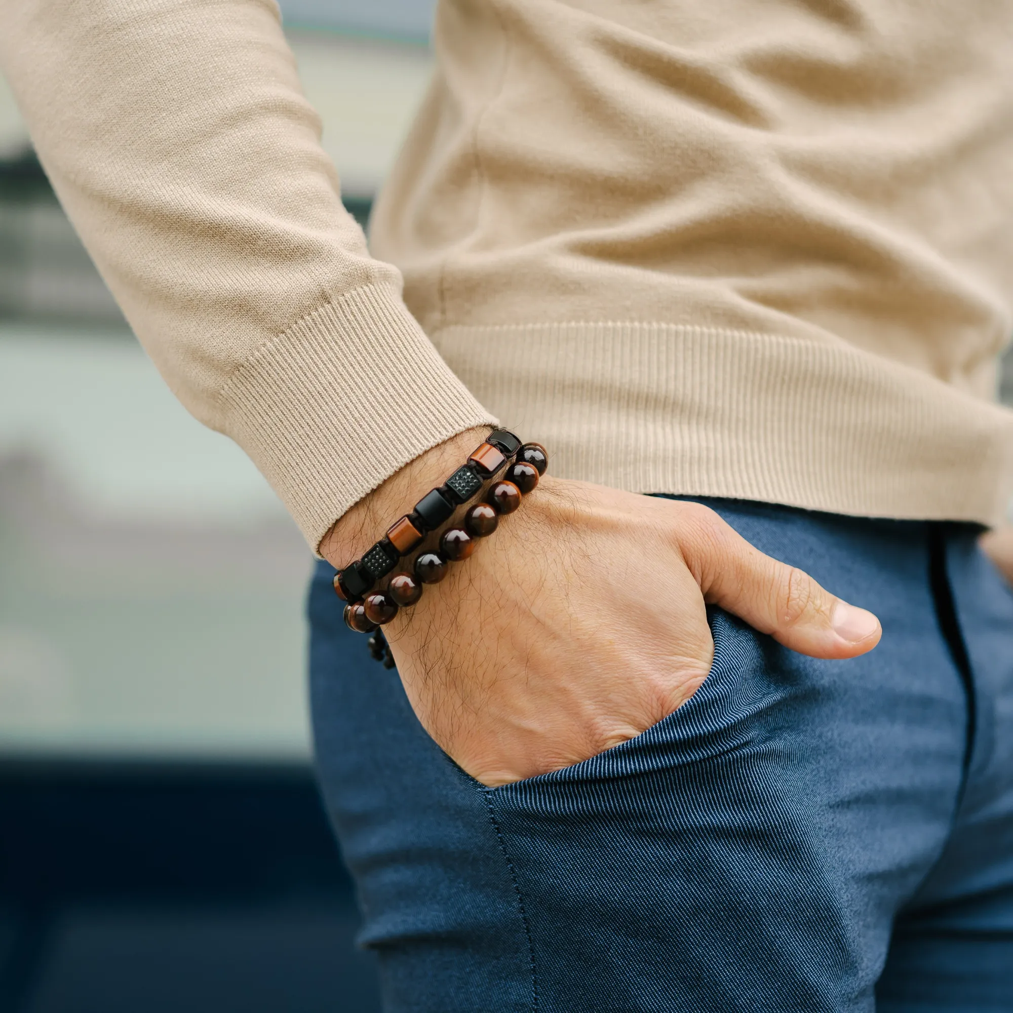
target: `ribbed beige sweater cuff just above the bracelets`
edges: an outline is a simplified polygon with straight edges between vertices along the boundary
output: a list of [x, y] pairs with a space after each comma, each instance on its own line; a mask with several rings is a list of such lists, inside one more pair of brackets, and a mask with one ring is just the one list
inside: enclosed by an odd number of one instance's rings
[[398, 294], [380, 286], [302, 317], [243, 363], [219, 397], [223, 430], [314, 551], [334, 521], [413, 458], [496, 422]]

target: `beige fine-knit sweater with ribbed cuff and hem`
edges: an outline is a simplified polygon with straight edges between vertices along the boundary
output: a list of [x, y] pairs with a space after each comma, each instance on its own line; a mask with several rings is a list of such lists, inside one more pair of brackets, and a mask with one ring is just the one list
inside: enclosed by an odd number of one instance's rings
[[442, 0], [436, 48], [374, 259], [271, 0], [3, 6], [128, 319], [311, 544], [493, 416], [633, 490], [1001, 516], [1013, 0]]

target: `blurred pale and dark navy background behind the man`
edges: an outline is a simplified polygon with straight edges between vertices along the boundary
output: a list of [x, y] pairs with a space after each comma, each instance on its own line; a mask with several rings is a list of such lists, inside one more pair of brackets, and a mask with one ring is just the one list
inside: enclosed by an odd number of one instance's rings
[[[282, 8], [365, 222], [431, 0]], [[311, 561], [164, 387], [0, 78], [0, 1011], [379, 1010], [309, 766]]]

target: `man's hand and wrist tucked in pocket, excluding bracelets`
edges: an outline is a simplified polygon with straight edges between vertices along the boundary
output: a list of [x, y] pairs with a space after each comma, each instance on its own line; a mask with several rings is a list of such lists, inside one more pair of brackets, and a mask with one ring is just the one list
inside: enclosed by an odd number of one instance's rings
[[[338, 566], [355, 558], [483, 436], [388, 479], [321, 552]], [[815, 657], [862, 654], [881, 632], [705, 506], [551, 475], [384, 629], [422, 725], [497, 785], [587, 760], [685, 703], [713, 657], [707, 603]]]

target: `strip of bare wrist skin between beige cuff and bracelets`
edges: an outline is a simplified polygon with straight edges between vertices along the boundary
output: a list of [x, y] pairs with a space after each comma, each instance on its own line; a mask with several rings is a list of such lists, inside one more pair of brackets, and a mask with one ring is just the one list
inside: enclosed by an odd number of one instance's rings
[[409, 461], [334, 522], [320, 542], [320, 555], [338, 569], [358, 559], [398, 517], [460, 467], [488, 432], [487, 425], [466, 430]]

